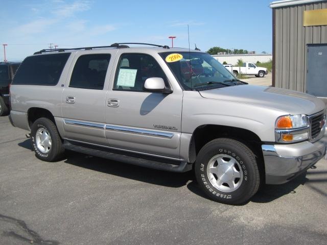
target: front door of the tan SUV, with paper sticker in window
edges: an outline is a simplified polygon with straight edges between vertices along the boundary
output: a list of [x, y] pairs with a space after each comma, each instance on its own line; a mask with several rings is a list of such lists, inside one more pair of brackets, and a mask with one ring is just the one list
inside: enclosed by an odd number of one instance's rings
[[164, 94], [143, 89], [151, 77], [171, 86], [156, 56], [118, 53], [106, 97], [106, 137], [116, 149], [179, 159], [182, 90]]

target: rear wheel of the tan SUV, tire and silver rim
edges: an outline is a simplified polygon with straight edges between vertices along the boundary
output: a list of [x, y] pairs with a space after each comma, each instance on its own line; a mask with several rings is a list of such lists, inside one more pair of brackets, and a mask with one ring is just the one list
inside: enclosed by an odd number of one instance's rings
[[32, 125], [32, 147], [35, 156], [46, 162], [53, 162], [63, 156], [64, 148], [58, 130], [48, 118], [41, 117]]

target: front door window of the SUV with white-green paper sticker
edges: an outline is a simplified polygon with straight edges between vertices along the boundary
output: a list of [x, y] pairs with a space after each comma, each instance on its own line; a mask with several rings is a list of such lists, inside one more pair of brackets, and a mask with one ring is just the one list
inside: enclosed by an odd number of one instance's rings
[[166, 76], [156, 60], [145, 54], [124, 54], [120, 58], [113, 89], [143, 91], [145, 80]]

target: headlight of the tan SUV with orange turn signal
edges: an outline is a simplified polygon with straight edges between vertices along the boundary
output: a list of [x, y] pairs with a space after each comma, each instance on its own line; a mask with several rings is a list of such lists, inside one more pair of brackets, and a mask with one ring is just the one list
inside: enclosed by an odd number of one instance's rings
[[275, 124], [276, 142], [297, 142], [309, 138], [309, 117], [307, 115], [280, 116]]

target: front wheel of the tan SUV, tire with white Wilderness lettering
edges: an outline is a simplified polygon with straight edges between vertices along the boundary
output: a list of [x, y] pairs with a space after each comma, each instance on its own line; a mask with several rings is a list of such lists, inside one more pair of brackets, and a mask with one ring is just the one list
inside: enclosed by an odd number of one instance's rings
[[219, 138], [208, 142], [200, 150], [194, 168], [201, 189], [219, 203], [243, 204], [259, 189], [255, 155], [237, 140]]

